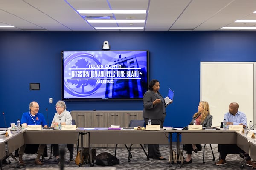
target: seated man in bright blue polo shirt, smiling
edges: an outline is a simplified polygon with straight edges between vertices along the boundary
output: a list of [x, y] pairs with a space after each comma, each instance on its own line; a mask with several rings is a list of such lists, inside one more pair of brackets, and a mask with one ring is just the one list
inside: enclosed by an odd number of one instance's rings
[[[42, 113], [38, 113], [39, 111], [39, 105], [37, 102], [33, 101], [29, 104], [29, 112], [25, 112], [22, 115], [21, 118], [21, 124], [27, 125], [42, 125], [43, 127], [48, 127], [47, 122], [44, 119], [44, 115]], [[46, 144], [39, 144], [38, 151], [37, 151], [37, 157], [35, 159], [35, 164], [42, 165], [43, 163], [40, 161], [41, 155], [44, 153], [44, 148], [46, 147]], [[24, 144], [19, 149], [19, 161], [20, 165], [24, 165], [24, 161], [22, 159], [22, 156], [24, 154], [26, 148], [26, 144]]]

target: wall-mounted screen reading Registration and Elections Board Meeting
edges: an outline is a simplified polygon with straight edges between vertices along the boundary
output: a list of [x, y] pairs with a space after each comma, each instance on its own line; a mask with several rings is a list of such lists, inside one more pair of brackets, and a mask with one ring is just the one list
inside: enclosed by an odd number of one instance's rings
[[141, 100], [148, 51], [62, 51], [62, 100]]

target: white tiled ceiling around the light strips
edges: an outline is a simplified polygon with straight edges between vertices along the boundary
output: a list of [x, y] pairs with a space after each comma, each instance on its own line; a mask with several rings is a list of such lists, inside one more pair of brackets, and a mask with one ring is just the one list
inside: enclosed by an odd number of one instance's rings
[[[76, 11], [92, 9], [148, 12], [111, 14], [116, 20], [145, 20], [145, 23], [117, 24], [88, 23]], [[144, 27], [144, 31], [212, 31], [224, 26], [256, 26], [256, 23], [234, 23], [256, 19], [254, 11], [256, 0], [0, 0], [0, 25], [15, 27], [0, 31], [98, 31], [94, 27], [118, 26]]]

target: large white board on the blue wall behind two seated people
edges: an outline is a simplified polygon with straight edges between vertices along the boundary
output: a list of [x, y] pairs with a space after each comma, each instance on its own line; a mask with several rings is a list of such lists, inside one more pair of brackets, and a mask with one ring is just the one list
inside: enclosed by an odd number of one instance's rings
[[231, 102], [246, 114], [247, 125], [255, 123], [256, 62], [201, 62], [200, 101], [207, 101], [213, 116], [212, 126], [219, 126]]

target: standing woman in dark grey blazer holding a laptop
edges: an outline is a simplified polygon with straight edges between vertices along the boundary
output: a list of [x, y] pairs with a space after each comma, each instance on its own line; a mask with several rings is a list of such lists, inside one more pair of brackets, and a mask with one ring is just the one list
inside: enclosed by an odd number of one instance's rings
[[[143, 96], [143, 118], [146, 124], [148, 124], [148, 119], [151, 119], [152, 125], [163, 127], [166, 107], [159, 89], [160, 83], [158, 80], [153, 79], [149, 82], [148, 91]], [[159, 144], [148, 144], [148, 156], [153, 159], [166, 160], [159, 151]]]

